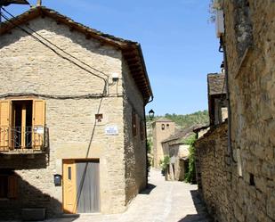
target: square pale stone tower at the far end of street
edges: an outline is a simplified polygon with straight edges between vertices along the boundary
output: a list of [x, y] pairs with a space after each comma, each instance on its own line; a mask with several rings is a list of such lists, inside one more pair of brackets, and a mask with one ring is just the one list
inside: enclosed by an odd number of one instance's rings
[[170, 119], [160, 118], [152, 123], [154, 168], [159, 168], [159, 161], [164, 159], [164, 151], [161, 142], [173, 135], [174, 130], [175, 124]]

